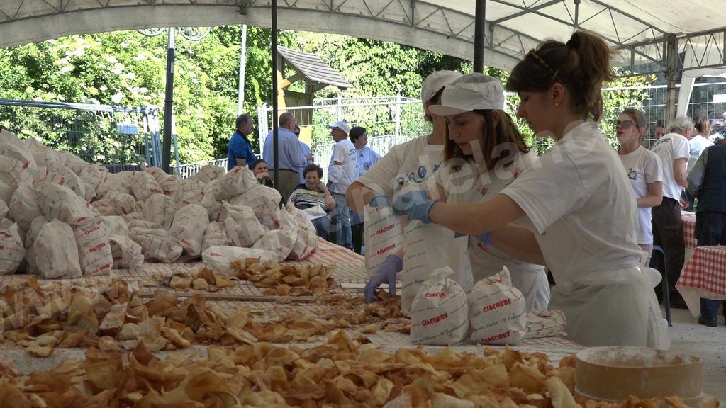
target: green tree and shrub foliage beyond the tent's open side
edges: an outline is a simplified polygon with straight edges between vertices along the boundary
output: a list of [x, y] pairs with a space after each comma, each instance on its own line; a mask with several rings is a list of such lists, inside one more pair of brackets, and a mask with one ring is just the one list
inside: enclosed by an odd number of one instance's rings
[[[187, 41], [176, 36], [174, 75], [174, 116], [182, 163], [225, 157], [227, 141], [234, 131], [237, 115], [237, 83], [240, 64], [240, 26], [221, 26], [211, 30], [202, 41]], [[245, 101], [243, 110], [257, 119], [257, 107], [272, 100], [272, 31], [248, 27]], [[36, 44], [0, 49], [0, 97], [49, 102], [81, 102], [122, 106], [164, 105], [166, 81], [166, 33], [143, 36], [136, 31], [100, 33], [58, 38]], [[439, 69], [471, 72], [470, 62], [410, 46], [364, 38], [321, 33], [280, 31], [278, 44], [312, 52], [338, 70], [353, 84], [340, 91], [328, 86], [316, 98], [371, 97], [400, 95], [417, 99], [421, 83], [429, 73]], [[493, 68], [489, 75], [506, 81], [507, 73]], [[646, 78], [647, 79], [647, 78]], [[646, 81], [627, 78], [616, 86], [632, 86]], [[302, 90], [302, 83], [292, 89]], [[606, 95], [605, 134], [616, 110], [639, 106], [643, 92], [624, 89]], [[514, 115], [518, 99], [508, 98]], [[378, 112], [380, 110], [380, 112]], [[85, 152], [84, 158], [103, 162], [113, 160], [122, 150], [142, 150], [143, 141], [120, 141], [115, 134], [115, 119], [89, 119], [73, 139], [71, 123], [78, 121], [73, 111], [26, 115], [0, 110], [0, 123], [20, 128], [25, 136], [37, 136], [60, 149]], [[376, 115], [388, 115], [387, 123], [372, 121]], [[346, 112], [344, 118], [368, 128], [369, 134], [392, 134], [396, 110], [393, 105]], [[314, 118], [327, 124], [337, 118], [322, 113]], [[403, 105], [400, 113], [402, 133], [417, 135], [429, 131], [420, 106]], [[91, 124], [88, 124], [91, 123]], [[163, 123], [163, 118], [160, 118]], [[531, 139], [523, 123], [521, 129]], [[330, 142], [325, 126], [314, 134], [314, 144]], [[29, 129], [33, 129], [30, 131]], [[255, 130], [257, 133], [258, 130]], [[70, 136], [69, 136], [70, 135]], [[258, 151], [258, 136], [253, 148]]]

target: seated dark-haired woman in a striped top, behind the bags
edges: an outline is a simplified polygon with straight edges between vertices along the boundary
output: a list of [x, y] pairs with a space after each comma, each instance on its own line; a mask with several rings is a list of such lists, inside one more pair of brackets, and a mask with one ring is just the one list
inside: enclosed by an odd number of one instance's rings
[[292, 203], [295, 208], [304, 211], [313, 221], [313, 225], [319, 237], [324, 240], [329, 238], [330, 216], [328, 213], [335, 208], [335, 199], [330, 195], [330, 191], [325, 184], [320, 181], [322, 177], [322, 168], [316, 164], [309, 164], [303, 170], [305, 182], [298, 184], [287, 204]]

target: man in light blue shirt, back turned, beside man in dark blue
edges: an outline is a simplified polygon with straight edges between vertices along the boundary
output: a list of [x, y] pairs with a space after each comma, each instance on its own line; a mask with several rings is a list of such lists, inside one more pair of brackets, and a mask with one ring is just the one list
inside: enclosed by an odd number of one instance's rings
[[[293, 189], [300, 184], [300, 168], [305, 166], [306, 157], [300, 147], [298, 136], [295, 136], [295, 115], [289, 112], [282, 113], [277, 121], [280, 126], [277, 131], [277, 151], [279, 160], [280, 180], [275, 181], [275, 188], [282, 195], [282, 201], [287, 203], [287, 198]], [[267, 167], [272, 173], [274, 171], [274, 151], [272, 150], [272, 129], [265, 137], [262, 150], [262, 158], [267, 162]]]

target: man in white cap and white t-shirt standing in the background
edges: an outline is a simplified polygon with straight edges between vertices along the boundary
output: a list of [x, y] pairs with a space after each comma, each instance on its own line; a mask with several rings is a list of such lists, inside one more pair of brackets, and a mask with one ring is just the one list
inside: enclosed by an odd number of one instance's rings
[[327, 185], [335, 199], [335, 209], [330, 213], [330, 224], [335, 230], [335, 243], [353, 250], [351, 233], [351, 209], [346, 204], [346, 189], [358, 176], [356, 147], [348, 140], [351, 126], [346, 121], [337, 121], [330, 127], [330, 136], [335, 140], [333, 157], [327, 171]]

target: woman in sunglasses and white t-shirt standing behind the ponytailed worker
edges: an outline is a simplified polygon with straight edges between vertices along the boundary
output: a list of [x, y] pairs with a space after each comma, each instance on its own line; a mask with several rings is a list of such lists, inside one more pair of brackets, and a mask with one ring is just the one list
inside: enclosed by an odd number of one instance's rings
[[635, 194], [638, 208], [637, 245], [650, 262], [653, 252], [653, 222], [650, 208], [661, 205], [663, 201], [663, 174], [661, 159], [640, 144], [640, 138], [648, 133], [648, 121], [642, 110], [627, 108], [618, 117], [616, 135], [620, 142], [618, 156], [625, 167], [630, 187]]

